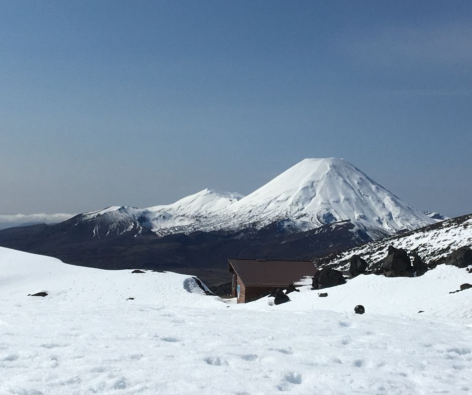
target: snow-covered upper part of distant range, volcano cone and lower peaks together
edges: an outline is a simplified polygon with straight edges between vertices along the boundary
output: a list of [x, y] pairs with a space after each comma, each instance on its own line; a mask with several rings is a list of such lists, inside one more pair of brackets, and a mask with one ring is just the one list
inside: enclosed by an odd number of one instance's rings
[[[345, 159], [304, 159], [248, 196], [204, 189], [167, 206], [110, 207], [87, 213], [105, 226], [128, 222], [164, 236], [194, 231], [264, 227], [290, 220], [299, 231], [351, 220], [372, 238], [416, 229], [435, 220], [416, 211]], [[126, 229], [120, 227], [119, 231]], [[117, 233], [115, 229], [112, 233]], [[106, 233], [102, 231], [101, 234]], [[140, 232], [139, 232], [140, 233]], [[100, 232], [96, 232], [100, 237]]]

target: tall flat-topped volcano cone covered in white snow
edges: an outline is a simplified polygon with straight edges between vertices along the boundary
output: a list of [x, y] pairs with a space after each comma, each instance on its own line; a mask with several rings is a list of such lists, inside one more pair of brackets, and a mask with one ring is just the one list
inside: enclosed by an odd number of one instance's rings
[[351, 220], [372, 236], [431, 224], [345, 159], [304, 159], [231, 206], [234, 224], [292, 218], [313, 227]]

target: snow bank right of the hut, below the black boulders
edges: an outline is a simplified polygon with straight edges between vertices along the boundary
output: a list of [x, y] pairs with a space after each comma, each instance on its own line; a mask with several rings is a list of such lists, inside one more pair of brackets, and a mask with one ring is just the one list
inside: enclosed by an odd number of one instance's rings
[[[455, 266], [439, 265], [419, 277], [360, 275], [346, 284], [313, 291], [310, 286], [292, 292], [290, 303], [269, 306], [269, 297], [251, 302], [245, 308], [262, 310], [312, 311], [331, 310], [347, 313], [361, 304], [366, 312], [389, 316], [460, 318], [472, 325], [472, 289], [449, 294], [463, 283], [472, 283], [472, 274]], [[328, 296], [320, 298], [320, 292]], [[273, 299], [273, 298], [272, 298]]]

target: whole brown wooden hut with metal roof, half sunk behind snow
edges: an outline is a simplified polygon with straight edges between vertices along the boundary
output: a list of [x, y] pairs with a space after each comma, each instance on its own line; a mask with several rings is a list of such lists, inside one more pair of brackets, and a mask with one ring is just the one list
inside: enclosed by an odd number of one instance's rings
[[231, 295], [246, 303], [267, 295], [275, 288], [300, 283], [316, 273], [312, 261], [228, 259], [232, 273]]

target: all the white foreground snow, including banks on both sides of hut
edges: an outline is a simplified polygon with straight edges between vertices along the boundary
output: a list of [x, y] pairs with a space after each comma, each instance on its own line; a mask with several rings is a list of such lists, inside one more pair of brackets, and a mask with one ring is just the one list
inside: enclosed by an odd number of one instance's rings
[[439, 266], [236, 305], [190, 276], [0, 248], [0, 393], [470, 393], [472, 289], [448, 294], [470, 278]]

